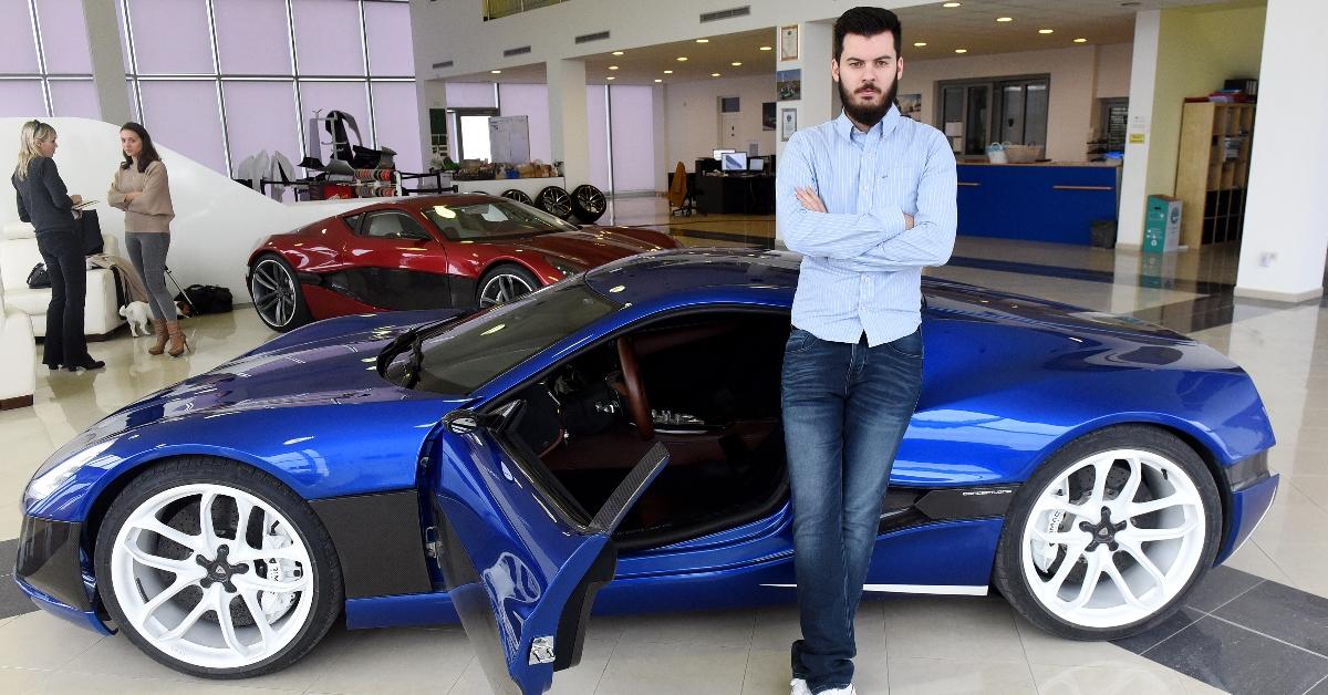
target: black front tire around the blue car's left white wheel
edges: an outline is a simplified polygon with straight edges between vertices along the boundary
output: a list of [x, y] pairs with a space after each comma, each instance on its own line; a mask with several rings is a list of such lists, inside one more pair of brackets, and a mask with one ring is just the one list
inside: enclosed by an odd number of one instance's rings
[[[158, 493], [183, 485], [210, 484], [243, 490], [283, 514], [308, 549], [313, 570], [312, 605], [297, 634], [279, 652], [240, 668], [195, 666], [165, 654], [139, 634], [125, 615], [116, 595], [112, 550], [121, 526], [130, 514]], [[234, 509], [234, 505], [231, 506]], [[197, 510], [197, 505], [195, 505]], [[197, 514], [197, 512], [195, 512]], [[183, 514], [181, 514], [183, 516]], [[215, 518], [215, 517], [214, 517]], [[224, 518], [224, 513], [223, 513]], [[170, 520], [167, 520], [169, 522]], [[262, 525], [262, 524], [260, 524]], [[232, 530], [234, 533], [234, 530]], [[177, 671], [212, 679], [252, 678], [280, 671], [300, 660], [341, 614], [341, 566], [332, 540], [309, 505], [272, 476], [243, 464], [208, 456], [190, 456], [165, 461], [134, 478], [112, 502], [97, 533], [93, 550], [97, 589], [102, 605], [120, 630], [145, 654]], [[142, 591], [141, 587], [137, 587]], [[215, 615], [214, 611], [208, 611]], [[206, 615], [206, 614], [205, 614]], [[202, 619], [207, 619], [206, 617]]]

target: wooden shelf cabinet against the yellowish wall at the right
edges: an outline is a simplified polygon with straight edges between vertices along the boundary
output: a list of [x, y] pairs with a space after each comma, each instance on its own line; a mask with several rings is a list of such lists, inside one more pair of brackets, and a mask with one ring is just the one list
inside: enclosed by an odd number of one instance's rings
[[1231, 242], [1244, 227], [1250, 183], [1254, 104], [1186, 104], [1181, 120], [1181, 153], [1175, 197], [1181, 209], [1181, 243]]

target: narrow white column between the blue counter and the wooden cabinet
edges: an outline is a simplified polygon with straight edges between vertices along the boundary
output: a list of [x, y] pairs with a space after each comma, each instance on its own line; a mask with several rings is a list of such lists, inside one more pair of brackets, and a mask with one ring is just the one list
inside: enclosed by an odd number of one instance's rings
[[[1143, 245], [1143, 213], [1149, 197], [1149, 146], [1153, 141], [1153, 101], [1157, 90], [1161, 28], [1161, 11], [1149, 9], [1134, 15], [1129, 136], [1125, 141], [1121, 210], [1116, 227], [1116, 245], [1125, 250], [1138, 250]], [[1134, 142], [1139, 140], [1139, 136], [1143, 141]]]

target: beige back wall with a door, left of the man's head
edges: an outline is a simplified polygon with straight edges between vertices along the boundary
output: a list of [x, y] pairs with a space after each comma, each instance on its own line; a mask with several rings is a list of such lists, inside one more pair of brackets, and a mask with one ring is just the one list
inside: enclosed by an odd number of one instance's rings
[[660, 162], [664, 170], [683, 162], [692, 171], [697, 157], [709, 157], [720, 146], [720, 97], [738, 97], [738, 142], [760, 142], [762, 153], [774, 153], [778, 130], [761, 129], [761, 104], [776, 100], [774, 74], [679, 82], [663, 92], [668, 120], [667, 155]]

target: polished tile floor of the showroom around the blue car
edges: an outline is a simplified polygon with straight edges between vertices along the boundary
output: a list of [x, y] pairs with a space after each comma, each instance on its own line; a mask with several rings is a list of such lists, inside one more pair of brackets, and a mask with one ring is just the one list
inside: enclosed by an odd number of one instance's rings
[[[671, 218], [659, 199], [619, 201], [619, 225], [651, 226], [692, 246], [770, 246], [772, 218]], [[607, 222], [607, 221], [606, 221]], [[874, 598], [858, 617], [863, 694], [1328, 692], [1328, 314], [1231, 295], [1236, 252], [1158, 262], [1137, 252], [960, 238], [934, 275], [1129, 314], [1191, 334], [1255, 379], [1283, 474], [1272, 512], [1178, 617], [1113, 643], [1066, 642], [991, 598]], [[1325, 320], [1319, 334], [1319, 320]], [[118, 334], [92, 351], [102, 372], [39, 373], [36, 404], [0, 413], [0, 553], [12, 557], [19, 497], [52, 450], [116, 408], [271, 338], [250, 307], [186, 322], [197, 351], [150, 357]], [[101, 638], [15, 595], [0, 571], [0, 692], [486, 692], [457, 627], [348, 631], [295, 667], [243, 682], [167, 670], [124, 637]], [[592, 619], [580, 666], [555, 692], [738, 695], [788, 692], [793, 607]]]

